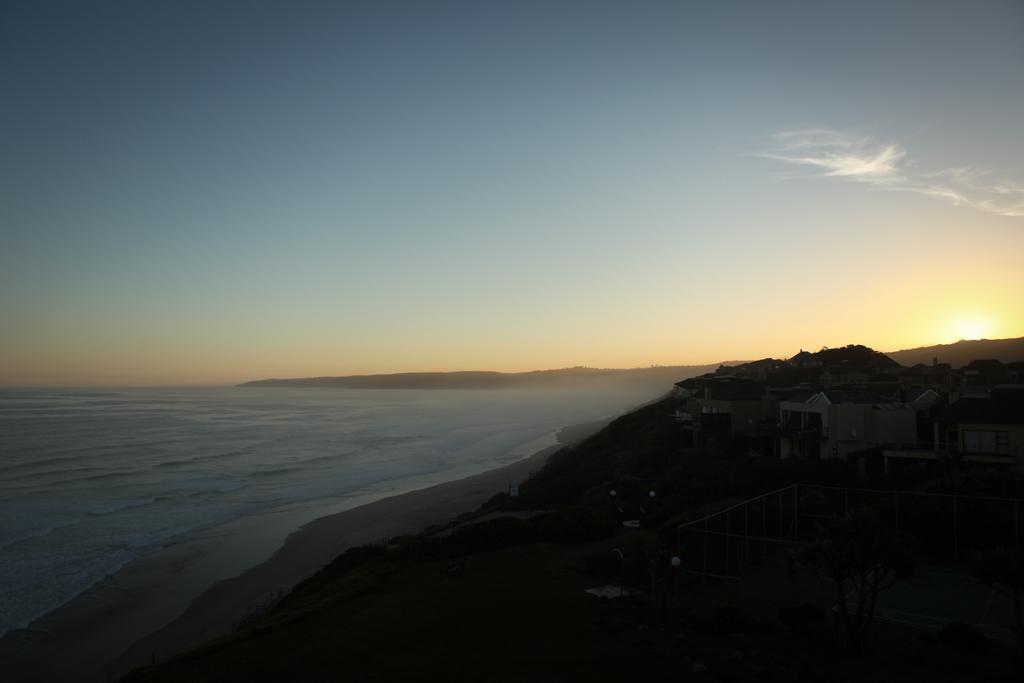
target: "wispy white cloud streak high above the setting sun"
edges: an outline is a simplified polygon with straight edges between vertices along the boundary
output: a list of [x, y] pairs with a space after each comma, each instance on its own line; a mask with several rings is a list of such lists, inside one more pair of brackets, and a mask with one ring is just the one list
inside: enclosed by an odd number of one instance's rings
[[973, 166], [923, 172], [893, 142], [829, 128], [802, 128], [771, 136], [760, 157], [805, 166], [814, 175], [842, 178], [881, 189], [918, 193], [1000, 216], [1024, 217], [1024, 183], [997, 178]]

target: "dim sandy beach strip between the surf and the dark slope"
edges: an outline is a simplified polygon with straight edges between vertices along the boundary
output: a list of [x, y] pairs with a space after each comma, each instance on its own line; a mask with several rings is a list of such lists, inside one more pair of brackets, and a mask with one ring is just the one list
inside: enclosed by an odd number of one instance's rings
[[528, 477], [561, 445], [607, 421], [558, 433], [559, 444], [505, 467], [411, 490], [291, 506], [234, 520], [122, 567], [0, 640], [0, 678], [113, 681], [229, 632], [238, 620], [345, 549], [416, 533], [472, 511]]

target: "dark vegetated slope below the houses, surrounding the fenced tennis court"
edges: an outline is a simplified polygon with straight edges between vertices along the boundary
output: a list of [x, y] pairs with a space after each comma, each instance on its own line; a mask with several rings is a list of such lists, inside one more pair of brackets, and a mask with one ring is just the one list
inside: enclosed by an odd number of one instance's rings
[[[232, 635], [127, 680], [1020, 680], [1013, 644], [968, 625], [870, 623], [873, 592], [912, 567], [869, 516], [823, 525], [788, 582], [669, 562], [679, 522], [794, 481], [979, 493], [1007, 475], [865, 480], [845, 462], [684, 450], [671, 411], [620, 418], [454, 529], [351, 549]], [[996, 560], [989, 575], [1015, 585], [1020, 565]], [[607, 585], [623, 597], [585, 592]], [[837, 613], [848, 586], [860, 606]]]

